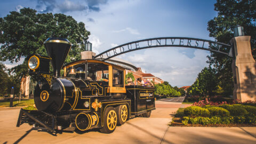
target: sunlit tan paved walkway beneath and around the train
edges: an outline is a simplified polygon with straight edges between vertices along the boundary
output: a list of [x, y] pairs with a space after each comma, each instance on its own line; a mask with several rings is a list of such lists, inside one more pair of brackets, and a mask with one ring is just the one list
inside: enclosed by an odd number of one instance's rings
[[28, 124], [15, 127], [19, 110], [0, 110], [0, 143], [256, 143], [256, 127], [170, 127], [181, 102], [156, 101], [150, 118], [130, 119], [111, 134], [97, 130], [53, 136]]

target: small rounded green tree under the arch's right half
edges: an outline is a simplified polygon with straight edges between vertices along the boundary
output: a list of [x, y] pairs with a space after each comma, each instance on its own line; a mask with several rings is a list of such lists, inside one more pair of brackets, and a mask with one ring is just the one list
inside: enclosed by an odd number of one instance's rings
[[206, 97], [207, 95], [214, 95], [217, 88], [217, 81], [213, 69], [211, 67], [205, 67], [197, 75], [196, 81], [189, 87], [188, 91], [189, 94]]

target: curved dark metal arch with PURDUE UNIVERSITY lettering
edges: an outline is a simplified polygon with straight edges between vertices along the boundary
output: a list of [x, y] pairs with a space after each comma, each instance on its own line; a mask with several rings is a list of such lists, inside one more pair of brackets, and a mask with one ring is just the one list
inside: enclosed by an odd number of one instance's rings
[[[142, 39], [139, 41], [134, 41], [113, 47], [105, 52], [95, 55], [93, 59], [98, 58], [102, 61], [105, 61], [123, 53], [142, 49], [149, 49], [153, 47], [189, 47], [193, 49], [218, 52], [226, 54], [229, 57], [233, 57], [231, 45], [229, 44], [189, 37], [157, 37]], [[107, 55], [107, 58], [103, 58], [104, 54]]]

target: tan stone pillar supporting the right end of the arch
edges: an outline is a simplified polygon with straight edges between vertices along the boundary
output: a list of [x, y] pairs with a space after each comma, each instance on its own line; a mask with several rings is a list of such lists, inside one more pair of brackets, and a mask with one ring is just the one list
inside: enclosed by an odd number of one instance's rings
[[251, 36], [238, 36], [230, 40], [234, 46], [235, 59], [232, 62], [235, 100], [256, 101], [256, 63], [252, 57]]

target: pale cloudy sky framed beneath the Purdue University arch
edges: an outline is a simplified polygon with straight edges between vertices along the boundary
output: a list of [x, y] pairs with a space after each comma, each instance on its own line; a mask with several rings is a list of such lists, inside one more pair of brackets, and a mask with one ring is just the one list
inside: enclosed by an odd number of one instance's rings
[[208, 66], [206, 63], [208, 52], [195, 50], [195, 57], [189, 58], [179, 52], [179, 49], [181, 48], [147, 49], [144, 52], [127, 53], [126, 59], [173, 86], [191, 85], [197, 74]]

